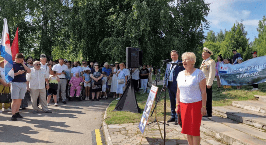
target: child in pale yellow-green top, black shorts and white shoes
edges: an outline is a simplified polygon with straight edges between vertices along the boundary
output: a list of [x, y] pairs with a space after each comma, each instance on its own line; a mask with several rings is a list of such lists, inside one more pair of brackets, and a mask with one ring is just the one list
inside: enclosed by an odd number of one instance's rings
[[49, 102], [51, 99], [51, 96], [53, 95], [54, 98], [54, 105], [57, 106], [57, 99], [56, 99], [56, 94], [57, 94], [57, 87], [58, 87], [58, 82], [60, 82], [60, 78], [58, 75], [56, 75], [56, 71], [53, 70], [54, 74], [50, 74], [49, 78], [49, 90], [48, 90], [48, 97], [47, 97], [47, 106], [49, 106]]

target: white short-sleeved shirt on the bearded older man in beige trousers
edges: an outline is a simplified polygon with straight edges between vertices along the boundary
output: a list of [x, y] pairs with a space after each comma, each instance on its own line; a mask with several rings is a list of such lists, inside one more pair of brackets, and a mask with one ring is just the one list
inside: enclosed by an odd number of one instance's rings
[[33, 90], [45, 88], [44, 82], [46, 78], [48, 79], [49, 75], [46, 74], [45, 69], [42, 67], [39, 70], [33, 67], [30, 74], [26, 74], [27, 81], [30, 81], [29, 88]]

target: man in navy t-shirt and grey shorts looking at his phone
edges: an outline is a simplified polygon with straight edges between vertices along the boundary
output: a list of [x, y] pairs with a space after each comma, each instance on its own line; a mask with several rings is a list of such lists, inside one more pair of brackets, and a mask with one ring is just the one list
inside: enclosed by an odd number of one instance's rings
[[21, 100], [24, 99], [26, 93], [26, 72], [30, 73], [30, 68], [27, 67], [24, 62], [24, 56], [21, 53], [16, 54], [15, 61], [13, 61], [14, 79], [11, 83], [11, 110], [12, 110], [12, 121], [17, 121], [17, 118], [23, 118], [19, 114], [19, 108]]

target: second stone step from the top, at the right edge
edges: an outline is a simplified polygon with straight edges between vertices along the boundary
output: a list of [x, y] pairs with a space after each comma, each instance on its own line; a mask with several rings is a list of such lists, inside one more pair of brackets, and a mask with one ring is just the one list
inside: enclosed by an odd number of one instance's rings
[[266, 114], [266, 102], [261, 101], [233, 101], [232, 106]]

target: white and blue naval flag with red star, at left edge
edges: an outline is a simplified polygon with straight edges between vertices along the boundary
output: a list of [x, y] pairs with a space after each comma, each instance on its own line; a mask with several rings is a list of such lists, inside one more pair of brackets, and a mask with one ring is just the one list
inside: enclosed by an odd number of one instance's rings
[[4, 70], [5, 70], [5, 81], [9, 83], [14, 79], [13, 61], [10, 48], [10, 40], [6, 19], [4, 19], [4, 26], [2, 31], [1, 41], [1, 56], [4, 57]]

